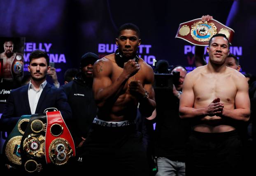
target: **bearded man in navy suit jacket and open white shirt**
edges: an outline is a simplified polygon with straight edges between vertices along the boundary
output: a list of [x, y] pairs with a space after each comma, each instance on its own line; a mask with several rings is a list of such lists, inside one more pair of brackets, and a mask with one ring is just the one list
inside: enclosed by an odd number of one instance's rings
[[49, 69], [49, 56], [46, 52], [36, 50], [30, 54], [30, 83], [11, 91], [0, 119], [1, 131], [11, 132], [22, 115], [43, 113], [44, 109], [51, 107], [61, 111], [64, 120], [71, 118], [70, 105], [64, 91], [46, 81]]

